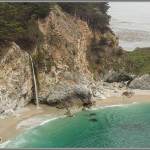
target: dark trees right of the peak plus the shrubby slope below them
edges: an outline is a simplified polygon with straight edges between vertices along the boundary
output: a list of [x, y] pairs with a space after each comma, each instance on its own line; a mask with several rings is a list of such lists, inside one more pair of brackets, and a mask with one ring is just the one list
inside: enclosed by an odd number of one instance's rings
[[59, 3], [63, 11], [86, 21], [88, 26], [96, 33], [92, 38], [87, 51], [88, 68], [99, 78], [100, 74], [110, 69], [110, 64], [117, 63], [123, 55], [122, 48], [118, 47], [118, 39], [114, 38], [109, 28], [110, 16], [107, 14], [109, 5], [100, 3]]

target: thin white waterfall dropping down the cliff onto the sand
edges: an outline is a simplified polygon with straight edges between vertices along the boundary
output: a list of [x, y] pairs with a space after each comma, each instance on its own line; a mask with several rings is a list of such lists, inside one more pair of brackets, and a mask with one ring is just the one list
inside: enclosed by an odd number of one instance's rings
[[34, 71], [33, 60], [32, 60], [32, 56], [31, 56], [30, 54], [29, 54], [29, 58], [30, 58], [30, 60], [31, 60], [31, 68], [32, 68], [33, 82], [34, 82], [34, 88], [35, 88], [36, 105], [37, 105], [37, 108], [39, 108], [37, 82], [36, 82], [36, 77], [35, 77], [35, 71]]

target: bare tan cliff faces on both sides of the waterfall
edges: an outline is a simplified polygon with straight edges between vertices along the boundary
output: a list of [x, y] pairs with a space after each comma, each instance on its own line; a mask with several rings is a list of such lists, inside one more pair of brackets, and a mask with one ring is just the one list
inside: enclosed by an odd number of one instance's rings
[[[40, 103], [67, 106], [91, 103], [101, 98], [100, 82], [88, 70], [86, 52], [92, 31], [86, 22], [62, 12], [58, 6], [39, 20], [44, 40], [31, 52], [34, 60]], [[0, 113], [35, 101], [29, 55], [12, 43], [0, 63]], [[102, 92], [103, 93], [103, 92]]]

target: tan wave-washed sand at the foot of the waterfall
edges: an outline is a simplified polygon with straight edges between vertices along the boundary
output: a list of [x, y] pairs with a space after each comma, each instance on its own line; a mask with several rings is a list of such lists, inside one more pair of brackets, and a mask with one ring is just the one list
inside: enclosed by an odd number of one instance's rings
[[[58, 110], [48, 105], [40, 105], [40, 109], [37, 109], [35, 105], [29, 104], [21, 112], [0, 119], [0, 137], [2, 138], [0, 143], [10, 140], [31, 126], [36, 126], [42, 121], [56, 118], [64, 113], [65, 110]], [[45, 120], [42, 120], [43, 117], [45, 117]]]

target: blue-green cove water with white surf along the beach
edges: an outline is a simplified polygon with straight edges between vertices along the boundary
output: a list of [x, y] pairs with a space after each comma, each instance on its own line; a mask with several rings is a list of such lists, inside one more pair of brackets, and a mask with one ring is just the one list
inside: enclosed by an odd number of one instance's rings
[[150, 104], [79, 112], [72, 118], [59, 118], [26, 131], [6, 147], [150, 147]]

